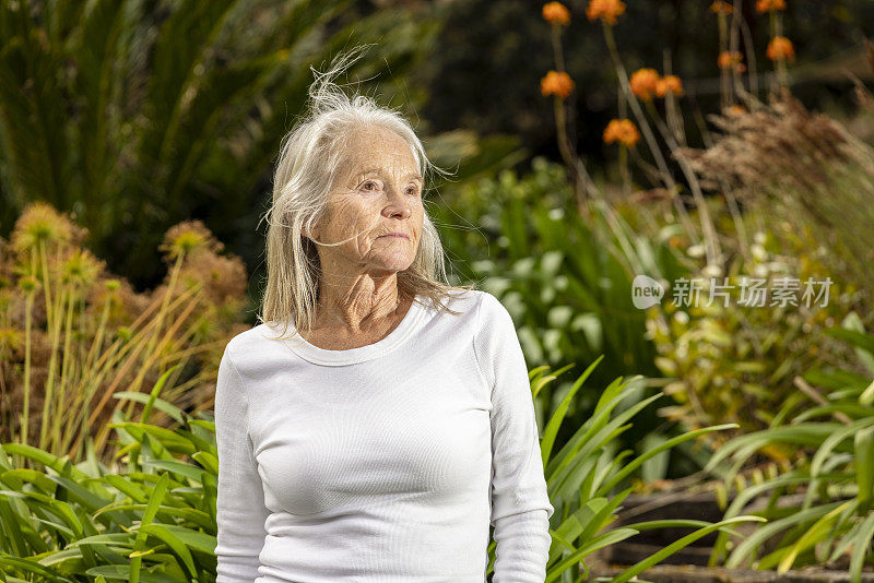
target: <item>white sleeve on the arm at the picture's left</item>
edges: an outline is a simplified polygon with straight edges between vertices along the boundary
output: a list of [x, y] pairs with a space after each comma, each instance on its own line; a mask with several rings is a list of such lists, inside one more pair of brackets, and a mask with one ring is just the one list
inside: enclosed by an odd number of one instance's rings
[[225, 347], [215, 384], [216, 583], [252, 583], [264, 545], [270, 511], [248, 433], [246, 386]]

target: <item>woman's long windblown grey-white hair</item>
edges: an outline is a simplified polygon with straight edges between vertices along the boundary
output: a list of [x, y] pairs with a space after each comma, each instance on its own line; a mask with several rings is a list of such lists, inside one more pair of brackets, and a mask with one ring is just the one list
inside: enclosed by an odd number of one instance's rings
[[[265, 213], [267, 289], [262, 312], [264, 323], [283, 322], [282, 337], [293, 321], [297, 330], [310, 330], [318, 304], [320, 265], [316, 243], [304, 237], [324, 216], [328, 194], [333, 190], [343, 156], [343, 143], [356, 130], [377, 124], [400, 135], [410, 144], [423, 178], [429, 170], [448, 174], [435, 166], [410, 122], [395, 109], [379, 106], [358, 95], [350, 98], [331, 80], [357, 60], [367, 45], [355, 47], [331, 61], [309, 86], [309, 108], [303, 119], [285, 134], [273, 177], [273, 202]], [[423, 188], [423, 198], [425, 188]], [[319, 243], [327, 245], [327, 243]], [[340, 243], [335, 243], [340, 245]], [[425, 213], [416, 257], [406, 270], [398, 273], [398, 294], [423, 295], [435, 306], [447, 309], [442, 299], [453, 289], [447, 281], [444, 248], [437, 229]], [[452, 312], [456, 313], [456, 312]]]

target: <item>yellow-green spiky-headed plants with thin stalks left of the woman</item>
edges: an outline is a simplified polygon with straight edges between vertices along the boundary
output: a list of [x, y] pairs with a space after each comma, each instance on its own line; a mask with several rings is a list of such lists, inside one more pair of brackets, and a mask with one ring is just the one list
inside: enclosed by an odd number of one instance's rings
[[[90, 437], [106, 455], [120, 391], [140, 392], [169, 367], [168, 400], [212, 407], [217, 362], [240, 323], [246, 267], [200, 222], [170, 228], [164, 283], [138, 294], [83, 247], [87, 233], [46, 203], [28, 205], [0, 239], [0, 441], [78, 461]], [[135, 403], [127, 403], [130, 415]], [[173, 423], [156, 412], [157, 423]]]

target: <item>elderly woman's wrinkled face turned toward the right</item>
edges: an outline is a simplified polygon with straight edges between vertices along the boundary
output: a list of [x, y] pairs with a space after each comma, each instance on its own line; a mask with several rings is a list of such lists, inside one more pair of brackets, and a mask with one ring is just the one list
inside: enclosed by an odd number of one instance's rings
[[379, 277], [403, 271], [415, 259], [425, 215], [413, 152], [380, 127], [357, 131], [346, 147], [327, 216], [312, 233], [322, 243], [345, 241], [318, 246], [324, 275]]

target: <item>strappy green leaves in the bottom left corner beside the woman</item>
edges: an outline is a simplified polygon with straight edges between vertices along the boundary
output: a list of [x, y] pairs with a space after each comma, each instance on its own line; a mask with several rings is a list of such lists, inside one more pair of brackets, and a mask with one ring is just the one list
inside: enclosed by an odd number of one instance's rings
[[[2, 445], [0, 581], [215, 581], [215, 425], [158, 398], [165, 379], [139, 423], [114, 416], [123, 473], [101, 463], [93, 443], [76, 465], [32, 445]], [[153, 408], [181, 428], [147, 424]], [[15, 467], [8, 455], [45, 469]]]

